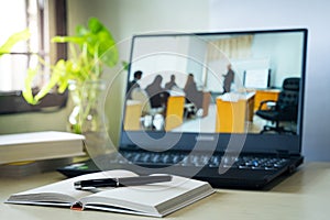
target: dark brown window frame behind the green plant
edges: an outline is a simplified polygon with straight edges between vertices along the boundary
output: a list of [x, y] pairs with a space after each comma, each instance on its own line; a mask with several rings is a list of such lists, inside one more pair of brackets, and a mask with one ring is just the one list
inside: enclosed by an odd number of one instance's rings
[[[67, 2], [66, 0], [48, 0], [50, 11], [48, 18], [54, 18], [54, 21], [50, 25], [54, 25], [52, 35], [67, 35]], [[43, 12], [41, 16], [44, 16]], [[41, 21], [44, 21], [44, 18], [41, 18]], [[44, 32], [40, 33], [41, 45], [40, 51], [44, 51]], [[50, 45], [53, 46], [53, 45]], [[58, 61], [61, 58], [67, 58], [67, 45], [66, 44], [56, 44], [52, 47], [56, 53], [50, 54], [50, 59]], [[51, 51], [53, 51], [51, 50]], [[14, 55], [14, 54], [13, 54]], [[29, 56], [29, 54], [26, 53]], [[53, 57], [52, 57], [53, 55]], [[43, 56], [43, 55], [42, 55]], [[36, 94], [36, 91], [35, 91]], [[14, 114], [22, 112], [34, 112], [34, 111], [58, 111], [59, 109], [66, 107], [68, 100], [68, 91], [64, 94], [53, 92], [46, 95], [40, 103], [30, 105], [25, 101], [22, 96], [21, 90], [15, 91], [1, 91], [0, 92], [0, 114]]]

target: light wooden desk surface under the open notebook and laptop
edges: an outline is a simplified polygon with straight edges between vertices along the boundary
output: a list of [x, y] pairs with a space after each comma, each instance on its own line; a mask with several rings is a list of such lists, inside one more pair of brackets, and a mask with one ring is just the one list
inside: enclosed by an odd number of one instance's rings
[[[155, 219], [102, 211], [74, 211], [67, 208], [7, 205], [14, 193], [62, 180], [58, 173], [26, 178], [0, 178], [0, 219]], [[206, 199], [176, 211], [165, 219], [329, 219], [330, 163], [302, 165], [294, 175], [270, 191], [218, 189]]]

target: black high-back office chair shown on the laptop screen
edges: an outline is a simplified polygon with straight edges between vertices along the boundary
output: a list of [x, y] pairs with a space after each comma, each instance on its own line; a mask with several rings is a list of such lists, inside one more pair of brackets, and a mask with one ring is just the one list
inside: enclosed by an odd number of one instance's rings
[[[280, 127], [280, 122], [297, 122], [298, 101], [299, 101], [299, 82], [297, 77], [286, 78], [283, 81], [282, 91], [278, 95], [277, 101], [265, 100], [260, 103], [258, 110], [255, 112], [262, 119], [272, 121], [274, 127], [264, 125], [261, 133], [274, 131], [278, 133], [292, 133], [296, 131], [287, 130]], [[265, 108], [265, 106], [267, 106]]]

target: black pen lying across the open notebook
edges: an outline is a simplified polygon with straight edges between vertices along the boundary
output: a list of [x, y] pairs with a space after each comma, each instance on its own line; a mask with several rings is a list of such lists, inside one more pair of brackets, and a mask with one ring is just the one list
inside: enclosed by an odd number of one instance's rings
[[136, 176], [136, 177], [122, 177], [122, 178], [99, 178], [99, 179], [86, 179], [75, 182], [76, 189], [88, 189], [97, 187], [124, 187], [124, 186], [140, 186], [146, 184], [155, 184], [163, 182], [170, 182], [169, 175], [157, 176]]

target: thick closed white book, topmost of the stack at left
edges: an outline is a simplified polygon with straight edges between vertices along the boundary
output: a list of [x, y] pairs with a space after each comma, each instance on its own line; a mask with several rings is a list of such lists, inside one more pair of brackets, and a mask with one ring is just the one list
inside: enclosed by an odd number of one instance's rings
[[45, 131], [0, 135], [0, 165], [81, 156], [84, 135]]

